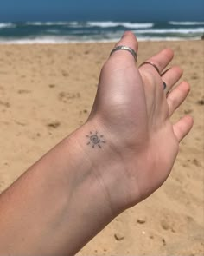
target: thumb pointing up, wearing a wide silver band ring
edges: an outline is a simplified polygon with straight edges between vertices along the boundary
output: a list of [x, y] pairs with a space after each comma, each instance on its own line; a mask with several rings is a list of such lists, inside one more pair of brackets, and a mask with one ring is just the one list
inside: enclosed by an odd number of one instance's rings
[[[137, 52], [136, 36], [129, 31], [125, 32], [116, 44], [116, 47], [118, 46], [125, 46]], [[123, 49], [112, 51], [100, 73], [97, 103], [104, 104], [104, 108], [130, 104], [135, 101], [135, 95], [143, 94], [141, 84], [134, 54]]]

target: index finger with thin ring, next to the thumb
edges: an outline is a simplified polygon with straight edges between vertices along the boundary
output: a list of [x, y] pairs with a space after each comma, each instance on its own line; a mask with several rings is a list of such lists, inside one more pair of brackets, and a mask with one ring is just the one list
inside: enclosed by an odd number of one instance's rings
[[[174, 57], [174, 52], [172, 49], [163, 49], [155, 56], [150, 57], [150, 59], [148, 59], [147, 62], [151, 62], [154, 65], [156, 65], [157, 69], [161, 73], [163, 69], [165, 69], [169, 65], [169, 62], [171, 62], [173, 57]], [[145, 64], [141, 66], [140, 69], [149, 71], [150, 73], [153, 73], [153, 74], [157, 73], [158, 75], [158, 72], [156, 71], [156, 68], [154, 67], [154, 65]]]

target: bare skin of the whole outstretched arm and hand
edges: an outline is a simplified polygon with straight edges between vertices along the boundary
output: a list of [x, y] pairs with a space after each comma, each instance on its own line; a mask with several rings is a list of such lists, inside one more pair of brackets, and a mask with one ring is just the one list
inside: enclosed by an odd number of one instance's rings
[[[131, 32], [117, 45], [138, 50]], [[147, 61], [163, 72], [173, 56], [163, 49]], [[154, 193], [193, 126], [190, 116], [169, 121], [189, 92], [188, 82], [173, 89], [181, 77], [180, 67], [161, 77], [150, 64], [137, 69], [130, 52], [115, 51], [101, 70], [86, 123], [1, 194], [0, 255], [74, 255], [119, 213]]]

